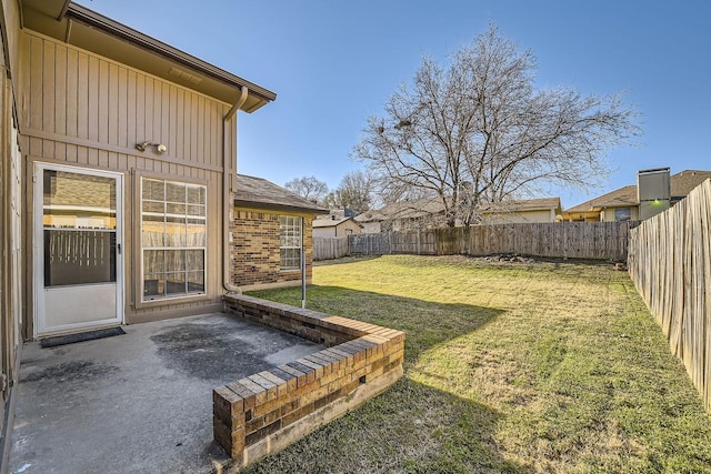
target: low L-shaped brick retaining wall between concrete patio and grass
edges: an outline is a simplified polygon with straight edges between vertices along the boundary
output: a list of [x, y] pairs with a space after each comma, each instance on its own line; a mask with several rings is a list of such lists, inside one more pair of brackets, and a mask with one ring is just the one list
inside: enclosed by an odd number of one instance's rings
[[214, 440], [238, 465], [298, 441], [402, 375], [401, 331], [246, 295], [226, 295], [224, 309], [328, 347], [214, 389]]

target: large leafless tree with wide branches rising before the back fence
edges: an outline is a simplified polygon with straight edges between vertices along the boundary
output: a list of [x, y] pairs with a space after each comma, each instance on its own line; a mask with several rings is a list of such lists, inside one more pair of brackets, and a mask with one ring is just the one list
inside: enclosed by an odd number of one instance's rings
[[448, 69], [423, 59], [371, 117], [353, 157], [385, 195], [411, 190], [442, 202], [447, 222], [469, 224], [483, 203], [530, 194], [541, 183], [587, 189], [609, 175], [605, 152], [640, 133], [620, 98], [535, 90], [535, 59], [492, 26]]

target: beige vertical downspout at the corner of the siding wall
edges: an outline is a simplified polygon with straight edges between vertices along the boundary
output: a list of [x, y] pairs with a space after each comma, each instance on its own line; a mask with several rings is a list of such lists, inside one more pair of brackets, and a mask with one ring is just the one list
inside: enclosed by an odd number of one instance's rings
[[237, 170], [231, 172], [230, 160], [232, 157], [228, 153], [228, 122], [232, 119], [232, 115], [244, 104], [249, 95], [249, 90], [246, 85], [242, 85], [239, 98], [227, 112], [227, 115], [222, 119], [222, 286], [230, 293], [242, 294], [242, 289], [232, 283], [232, 276], [230, 274], [232, 243], [230, 225], [232, 224], [234, 209], [234, 198], [232, 195], [231, 181], [237, 177]]

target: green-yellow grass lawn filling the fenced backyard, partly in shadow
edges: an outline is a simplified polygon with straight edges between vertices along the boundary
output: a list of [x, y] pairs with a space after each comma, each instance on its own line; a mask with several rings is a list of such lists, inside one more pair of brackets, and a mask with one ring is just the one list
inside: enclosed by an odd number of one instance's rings
[[404, 377], [249, 472], [711, 472], [711, 416], [625, 272], [391, 255], [313, 283], [309, 309], [407, 333]]

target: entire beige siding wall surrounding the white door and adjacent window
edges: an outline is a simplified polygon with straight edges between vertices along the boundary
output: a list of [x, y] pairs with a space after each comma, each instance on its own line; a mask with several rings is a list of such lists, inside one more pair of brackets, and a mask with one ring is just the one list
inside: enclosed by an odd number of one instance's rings
[[[222, 295], [222, 135], [227, 153], [237, 157], [237, 114], [227, 127], [230, 104], [197, 93], [116, 61], [63, 44], [39, 33], [21, 33], [21, 53], [29, 59], [21, 71], [19, 113], [27, 171], [34, 161], [63, 163], [124, 174], [126, 316], [129, 323], [220, 306]], [[163, 143], [168, 152], [136, 150], [136, 143]], [[230, 172], [237, 163], [231, 160]], [[207, 185], [208, 294], [157, 304], [141, 303], [140, 177], [164, 178]], [[32, 209], [31, 180], [26, 209]], [[32, 235], [32, 219], [26, 232]], [[32, 261], [31, 244], [26, 248]], [[27, 265], [31, 273], [31, 264]], [[32, 285], [28, 274], [27, 284]], [[31, 325], [31, 296], [27, 301]], [[32, 334], [28, 327], [27, 334]]]

